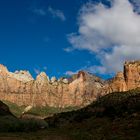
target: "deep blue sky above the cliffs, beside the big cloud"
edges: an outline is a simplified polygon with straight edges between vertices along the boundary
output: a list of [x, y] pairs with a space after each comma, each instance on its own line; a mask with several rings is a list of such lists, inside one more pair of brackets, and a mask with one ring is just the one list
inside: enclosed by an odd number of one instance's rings
[[[99, 0], [1, 0], [0, 63], [6, 65], [10, 71], [29, 70], [33, 76], [45, 71], [49, 76], [60, 77], [65, 73], [86, 69], [102, 77], [108, 77], [109, 74], [105, 73], [107, 69], [99, 58], [104, 52], [97, 51], [97, 48], [95, 51], [94, 45], [90, 48], [88, 44], [81, 47], [86, 44], [82, 40], [85, 34], [80, 32], [83, 17], [87, 14], [95, 16], [95, 11], [86, 11], [87, 5], [91, 9], [98, 2]], [[110, 4], [108, 0], [102, 2], [107, 6]], [[133, 2], [137, 10], [139, 3]], [[80, 38], [78, 41], [77, 37]], [[95, 42], [100, 41], [94, 37], [93, 34]], [[102, 36], [100, 38], [103, 39]], [[86, 40], [90, 42], [87, 36]], [[122, 46], [123, 43], [122, 41], [119, 45]], [[106, 43], [108, 46], [112, 44], [118, 45], [118, 42]], [[100, 47], [100, 44], [98, 45]], [[110, 50], [113, 52], [113, 48], [107, 48], [105, 52], [108, 54]], [[133, 56], [135, 52], [132, 57], [127, 54], [124, 58], [135, 59]]]

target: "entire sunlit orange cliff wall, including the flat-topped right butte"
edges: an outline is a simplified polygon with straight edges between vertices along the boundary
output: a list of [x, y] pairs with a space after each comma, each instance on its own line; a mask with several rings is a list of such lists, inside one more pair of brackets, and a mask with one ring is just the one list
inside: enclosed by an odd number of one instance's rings
[[41, 72], [33, 79], [28, 71], [9, 72], [0, 65], [0, 100], [26, 106], [85, 106], [111, 92], [140, 87], [140, 61], [125, 62], [124, 72], [107, 81], [85, 71], [70, 78], [49, 79]]

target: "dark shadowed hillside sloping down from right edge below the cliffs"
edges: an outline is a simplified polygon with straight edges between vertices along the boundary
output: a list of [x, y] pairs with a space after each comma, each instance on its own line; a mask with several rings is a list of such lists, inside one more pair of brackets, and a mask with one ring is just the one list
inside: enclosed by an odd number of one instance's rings
[[45, 119], [72, 140], [139, 140], [140, 90], [115, 92], [77, 111]]

